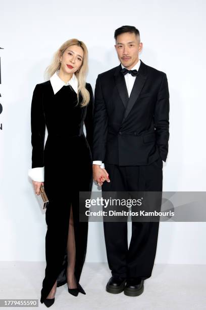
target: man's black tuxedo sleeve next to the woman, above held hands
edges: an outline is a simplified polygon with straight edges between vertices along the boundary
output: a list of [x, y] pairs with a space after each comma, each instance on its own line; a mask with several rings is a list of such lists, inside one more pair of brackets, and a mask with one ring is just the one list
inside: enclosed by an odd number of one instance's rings
[[97, 76], [94, 91], [94, 132], [93, 132], [93, 161], [105, 160], [107, 132], [108, 132], [108, 113], [104, 97], [102, 95], [100, 76]]

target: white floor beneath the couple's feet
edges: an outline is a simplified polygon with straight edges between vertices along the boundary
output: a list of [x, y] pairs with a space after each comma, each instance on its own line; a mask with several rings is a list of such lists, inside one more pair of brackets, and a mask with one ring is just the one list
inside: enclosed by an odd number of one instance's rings
[[[38, 308], [46, 309], [40, 303], [44, 269], [44, 262], [1, 262], [0, 299], [38, 299]], [[206, 309], [206, 265], [155, 265], [152, 276], [144, 281], [144, 292], [137, 297], [125, 296], [123, 292], [116, 295], [106, 292], [105, 286], [110, 277], [106, 263], [85, 263], [80, 284], [86, 295], [72, 296], [65, 284], [57, 288], [55, 303], [50, 308]]]

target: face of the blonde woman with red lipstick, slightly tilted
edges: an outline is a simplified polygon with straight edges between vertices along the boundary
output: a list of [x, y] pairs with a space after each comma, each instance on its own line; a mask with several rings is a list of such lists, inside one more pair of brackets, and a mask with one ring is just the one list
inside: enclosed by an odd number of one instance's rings
[[72, 45], [68, 47], [60, 57], [61, 69], [65, 73], [74, 73], [80, 69], [84, 57], [84, 51], [80, 46]]

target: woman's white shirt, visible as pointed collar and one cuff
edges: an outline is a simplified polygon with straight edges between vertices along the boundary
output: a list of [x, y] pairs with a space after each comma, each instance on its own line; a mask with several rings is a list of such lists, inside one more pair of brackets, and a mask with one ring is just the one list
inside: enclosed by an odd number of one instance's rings
[[[63, 86], [69, 86], [69, 85], [71, 85], [71, 87], [77, 93], [77, 90], [78, 90], [78, 80], [76, 78], [76, 75], [73, 73], [72, 78], [69, 80], [69, 82], [65, 83], [64, 81], [62, 81], [60, 79], [59, 72], [60, 72], [60, 70], [57, 70], [49, 79], [50, 83], [52, 84], [52, 88], [53, 88], [54, 94], [59, 92], [59, 90]], [[28, 176], [33, 181], [43, 182], [44, 181], [44, 167], [36, 167], [36, 168], [29, 169], [28, 170]]]

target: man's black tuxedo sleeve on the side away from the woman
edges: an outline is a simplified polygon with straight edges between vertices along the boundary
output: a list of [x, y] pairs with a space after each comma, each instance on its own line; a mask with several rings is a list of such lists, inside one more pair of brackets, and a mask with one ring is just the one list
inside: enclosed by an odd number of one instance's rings
[[167, 75], [164, 73], [158, 92], [157, 102], [155, 106], [154, 122], [156, 129], [156, 143], [159, 148], [160, 156], [166, 162], [168, 155], [169, 141], [169, 89]]

